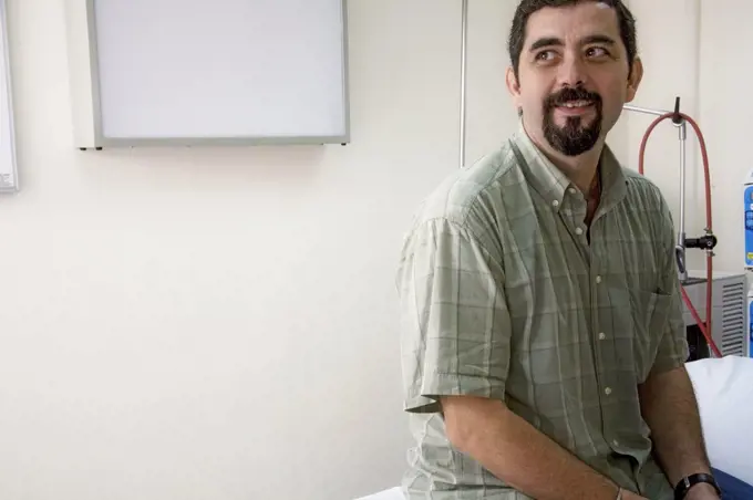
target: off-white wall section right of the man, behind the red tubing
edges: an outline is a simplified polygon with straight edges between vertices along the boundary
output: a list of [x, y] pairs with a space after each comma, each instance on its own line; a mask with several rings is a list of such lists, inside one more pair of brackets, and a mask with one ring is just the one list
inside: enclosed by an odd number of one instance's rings
[[[703, 133], [711, 174], [712, 228], [719, 238], [714, 269], [741, 272], [743, 254], [742, 183], [746, 164], [746, 76], [750, 71], [732, 46], [747, 46], [753, 35], [744, 0], [630, 0], [638, 20], [640, 53], [646, 66], [635, 104], [671, 110], [681, 97], [682, 111]], [[726, 37], [732, 37], [730, 42]], [[743, 51], [744, 52], [744, 51]], [[627, 164], [638, 168], [641, 138], [653, 117], [629, 114]], [[700, 146], [688, 126], [688, 237], [706, 227], [704, 177]], [[680, 223], [680, 142], [678, 129], [664, 121], [651, 134], [646, 175], [663, 190]], [[705, 253], [689, 250], [689, 265], [705, 269]]]

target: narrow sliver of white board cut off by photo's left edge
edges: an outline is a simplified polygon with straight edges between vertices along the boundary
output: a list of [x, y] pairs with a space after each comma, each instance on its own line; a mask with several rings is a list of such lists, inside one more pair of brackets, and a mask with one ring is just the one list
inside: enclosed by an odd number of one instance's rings
[[6, 1], [0, 0], [0, 192], [18, 190]]

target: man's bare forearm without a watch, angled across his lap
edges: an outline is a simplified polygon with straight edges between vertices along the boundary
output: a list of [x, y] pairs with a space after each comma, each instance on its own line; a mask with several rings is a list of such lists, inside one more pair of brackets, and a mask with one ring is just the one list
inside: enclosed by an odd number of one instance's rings
[[443, 406], [453, 445], [516, 490], [538, 500], [617, 498], [611, 480], [501, 402], [461, 397]]

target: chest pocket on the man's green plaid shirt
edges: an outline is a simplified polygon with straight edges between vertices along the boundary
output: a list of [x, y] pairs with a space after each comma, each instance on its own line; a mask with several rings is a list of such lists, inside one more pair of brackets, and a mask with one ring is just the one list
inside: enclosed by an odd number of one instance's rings
[[638, 382], [643, 383], [651, 372], [662, 336], [667, 332], [672, 295], [631, 290], [630, 302], [633, 323], [632, 353]]

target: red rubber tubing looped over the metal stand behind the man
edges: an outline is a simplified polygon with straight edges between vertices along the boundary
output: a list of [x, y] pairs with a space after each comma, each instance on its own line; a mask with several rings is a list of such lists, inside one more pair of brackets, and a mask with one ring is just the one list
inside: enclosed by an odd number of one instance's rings
[[[703, 139], [703, 133], [701, 132], [701, 128], [698, 126], [695, 121], [691, 118], [690, 116], [685, 115], [684, 113], [666, 113], [661, 116], [659, 116], [657, 119], [651, 123], [649, 128], [646, 131], [646, 134], [643, 135], [643, 140], [640, 144], [640, 156], [638, 159], [638, 171], [643, 175], [643, 157], [646, 155], [646, 144], [649, 140], [649, 136], [651, 135], [651, 132], [656, 128], [657, 125], [659, 125], [661, 122], [663, 122], [667, 118], [673, 118], [675, 116], [680, 116], [683, 119], [685, 119], [695, 131], [695, 135], [698, 136], [698, 142], [701, 145], [701, 155], [703, 156], [703, 176], [705, 179], [705, 199], [706, 199], [706, 229], [711, 231], [712, 226], [711, 226], [711, 179], [709, 177], [709, 155], [706, 154], [706, 147], [705, 147], [705, 140]], [[705, 323], [701, 321], [701, 316], [698, 313], [698, 310], [695, 306], [693, 306], [693, 303], [690, 301], [690, 298], [688, 296], [688, 292], [685, 291], [684, 287], [681, 287], [682, 291], [682, 300], [685, 302], [688, 305], [688, 309], [690, 310], [690, 313], [693, 315], [693, 320], [698, 323], [699, 329], [701, 329], [701, 333], [703, 333], [703, 336], [706, 340], [706, 343], [713, 351], [713, 353], [716, 355], [716, 357], [722, 357], [722, 352], [719, 350], [716, 346], [716, 343], [714, 340], [711, 337], [711, 312], [712, 312], [712, 300], [711, 300], [711, 289], [712, 289], [712, 252], [706, 252], [706, 321]]]

